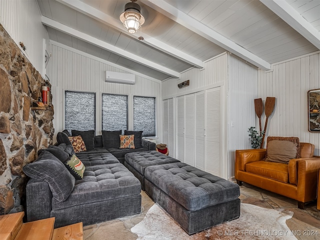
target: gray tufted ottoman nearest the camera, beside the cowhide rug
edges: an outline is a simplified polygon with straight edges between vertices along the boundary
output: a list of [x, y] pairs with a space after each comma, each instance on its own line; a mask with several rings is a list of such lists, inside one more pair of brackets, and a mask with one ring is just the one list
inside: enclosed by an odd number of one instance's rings
[[183, 162], [148, 166], [145, 191], [188, 233], [240, 215], [239, 186]]

